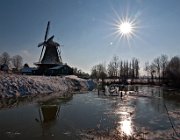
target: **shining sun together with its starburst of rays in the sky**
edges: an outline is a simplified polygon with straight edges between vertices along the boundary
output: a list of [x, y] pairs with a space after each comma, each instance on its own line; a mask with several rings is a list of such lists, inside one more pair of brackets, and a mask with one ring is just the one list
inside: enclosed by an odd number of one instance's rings
[[131, 47], [132, 42], [140, 38], [137, 35], [140, 28], [137, 14], [130, 16], [128, 12], [126, 12], [126, 14], [120, 16], [116, 10], [113, 9], [113, 12], [115, 16], [110, 23], [113, 31], [109, 34], [114, 38], [112, 42], [118, 44], [119, 42], [125, 42]]

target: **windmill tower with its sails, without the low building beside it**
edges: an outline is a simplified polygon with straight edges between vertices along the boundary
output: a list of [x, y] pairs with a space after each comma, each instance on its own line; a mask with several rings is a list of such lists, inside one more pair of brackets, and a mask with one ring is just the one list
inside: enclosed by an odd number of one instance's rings
[[50, 21], [48, 21], [44, 41], [38, 44], [38, 47], [42, 46], [39, 62], [35, 63], [39, 70], [43, 73], [49, 68], [62, 64], [61, 51], [59, 50], [60, 44], [53, 41], [54, 35], [48, 38], [50, 28]]

